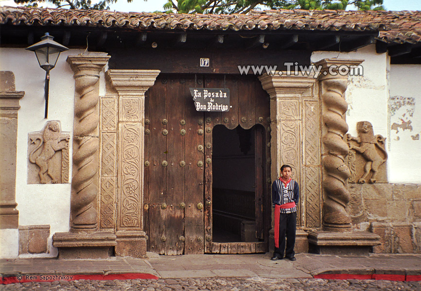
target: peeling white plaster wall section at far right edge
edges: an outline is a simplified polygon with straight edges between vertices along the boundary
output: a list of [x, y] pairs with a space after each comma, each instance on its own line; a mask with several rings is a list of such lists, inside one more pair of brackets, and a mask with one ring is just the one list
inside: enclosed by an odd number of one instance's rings
[[390, 65], [388, 169], [391, 183], [421, 183], [420, 78], [421, 65]]

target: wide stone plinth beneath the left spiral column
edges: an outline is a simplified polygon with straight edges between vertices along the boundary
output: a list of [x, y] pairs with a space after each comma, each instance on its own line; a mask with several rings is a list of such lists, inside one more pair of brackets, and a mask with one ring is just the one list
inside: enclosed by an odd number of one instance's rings
[[56, 232], [53, 246], [59, 259], [107, 259], [113, 255], [116, 235], [111, 232]]

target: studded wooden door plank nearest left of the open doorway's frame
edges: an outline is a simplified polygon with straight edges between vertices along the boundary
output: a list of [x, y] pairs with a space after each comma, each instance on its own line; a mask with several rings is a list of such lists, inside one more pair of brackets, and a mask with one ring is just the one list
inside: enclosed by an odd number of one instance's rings
[[[200, 80], [197, 76], [197, 79]], [[202, 79], [203, 80], [203, 79]], [[185, 116], [186, 116], [186, 166], [185, 166], [185, 244], [184, 254], [203, 254], [204, 252], [204, 216], [203, 208], [198, 209], [199, 203], [203, 201], [204, 183], [204, 154], [198, 151], [198, 146], [204, 146], [204, 114], [197, 112], [193, 106], [193, 99], [190, 94], [190, 87], [202, 87], [197, 84], [193, 77], [186, 77], [185, 85]], [[201, 130], [201, 134], [199, 134]], [[202, 166], [198, 165], [202, 163]]]

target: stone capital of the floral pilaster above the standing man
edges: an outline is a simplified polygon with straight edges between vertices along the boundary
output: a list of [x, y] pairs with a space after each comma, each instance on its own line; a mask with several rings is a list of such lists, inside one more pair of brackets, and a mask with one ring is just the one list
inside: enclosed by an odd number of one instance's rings
[[301, 97], [316, 81], [313, 73], [309, 76], [299, 73], [296, 76], [288, 75], [283, 71], [275, 71], [270, 75], [264, 74], [259, 77], [259, 80], [271, 99]]

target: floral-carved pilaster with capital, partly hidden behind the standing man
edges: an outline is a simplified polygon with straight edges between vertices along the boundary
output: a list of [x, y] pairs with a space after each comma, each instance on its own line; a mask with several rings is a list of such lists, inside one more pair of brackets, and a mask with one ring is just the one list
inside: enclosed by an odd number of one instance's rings
[[[279, 177], [282, 164], [289, 164], [293, 167], [294, 179], [305, 189], [305, 180], [302, 180], [305, 170], [302, 161], [302, 107], [304, 99], [315, 98], [316, 80], [312, 75], [288, 76], [285, 72], [281, 75], [274, 72], [273, 75], [263, 75], [259, 78], [263, 89], [270, 96], [271, 179], [273, 181]], [[317, 103], [317, 100], [315, 101]], [[306, 197], [306, 193], [301, 197]], [[297, 222], [300, 226], [305, 226], [305, 216], [301, 215], [303, 211], [305, 209], [298, 207]]]

